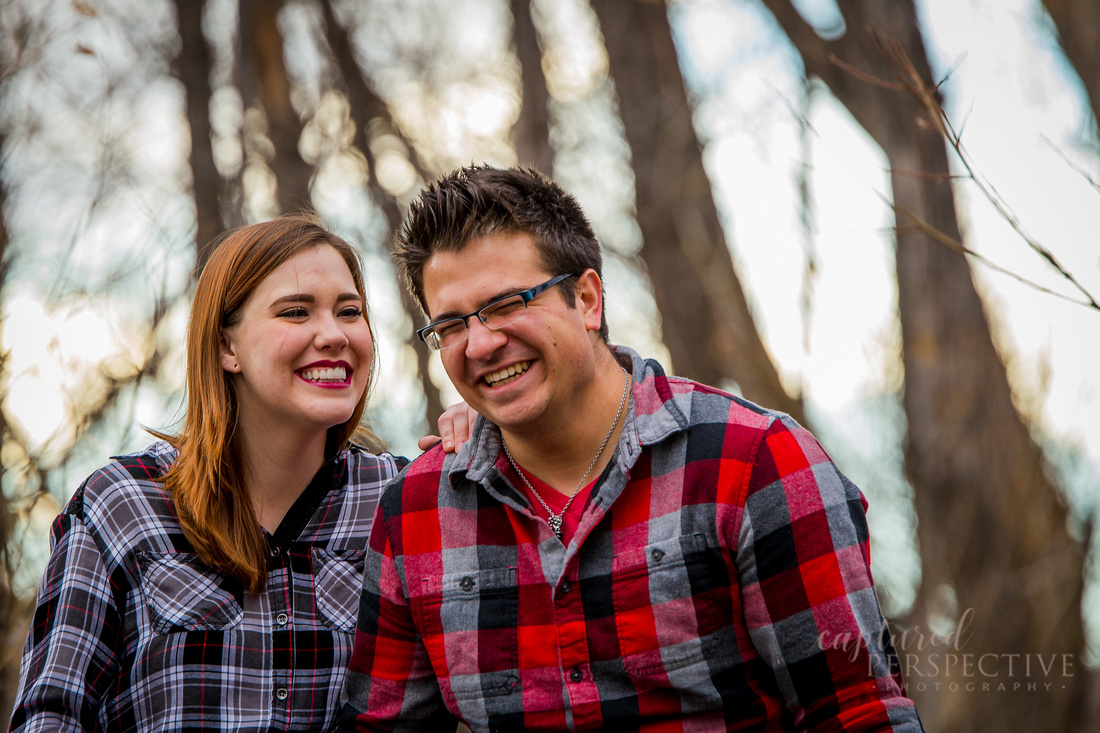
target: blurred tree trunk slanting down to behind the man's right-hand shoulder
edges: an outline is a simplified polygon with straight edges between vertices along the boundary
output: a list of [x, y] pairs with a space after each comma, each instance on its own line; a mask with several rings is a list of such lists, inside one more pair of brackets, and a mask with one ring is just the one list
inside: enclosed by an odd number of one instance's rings
[[635, 172], [641, 258], [676, 374], [805, 424], [752, 321], [722, 231], [663, 2], [592, 0]]

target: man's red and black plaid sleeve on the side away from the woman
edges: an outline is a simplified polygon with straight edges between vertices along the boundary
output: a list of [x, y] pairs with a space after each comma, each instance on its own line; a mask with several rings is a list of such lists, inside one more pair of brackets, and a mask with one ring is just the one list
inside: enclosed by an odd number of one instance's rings
[[767, 429], [750, 471], [745, 617], [798, 729], [923, 730], [875, 593], [859, 489], [791, 418]]

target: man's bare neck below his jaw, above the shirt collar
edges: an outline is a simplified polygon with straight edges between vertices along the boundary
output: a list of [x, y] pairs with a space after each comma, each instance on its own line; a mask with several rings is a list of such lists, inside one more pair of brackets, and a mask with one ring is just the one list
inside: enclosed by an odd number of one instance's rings
[[575, 404], [556, 406], [561, 414], [556, 420], [559, 428], [503, 433], [515, 461], [566, 496], [582, 478], [592, 481], [610, 462], [626, 423], [629, 375], [609, 351], [606, 357], [597, 362], [591, 385]]

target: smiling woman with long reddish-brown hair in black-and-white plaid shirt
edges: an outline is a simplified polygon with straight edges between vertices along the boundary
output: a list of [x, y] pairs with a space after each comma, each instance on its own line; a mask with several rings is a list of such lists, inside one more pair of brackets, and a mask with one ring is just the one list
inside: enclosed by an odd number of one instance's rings
[[352, 442], [373, 364], [346, 242], [305, 217], [226, 237], [195, 292], [183, 430], [54, 523], [12, 730], [330, 726], [406, 462]]

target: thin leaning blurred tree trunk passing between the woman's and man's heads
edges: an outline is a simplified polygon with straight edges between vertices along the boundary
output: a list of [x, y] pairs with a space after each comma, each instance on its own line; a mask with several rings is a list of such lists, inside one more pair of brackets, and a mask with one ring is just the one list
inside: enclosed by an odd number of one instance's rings
[[[321, 7], [328, 31], [329, 47], [332, 50], [337, 67], [343, 79], [344, 92], [348, 95], [348, 103], [351, 107], [351, 117], [353, 120], [361, 121], [360, 128], [363, 131], [362, 149], [363, 154], [366, 156], [371, 176], [369, 184], [371, 196], [382, 209], [382, 212], [386, 217], [386, 222], [389, 225], [391, 237], [386, 239], [386, 244], [392, 251], [393, 237], [400, 229], [403, 212], [397, 199], [389, 192], [385, 190], [378, 180], [377, 157], [374, 154], [371, 143], [372, 136], [377, 138], [380, 132], [389, 133], [397, 138], [400, 138], [400, 135], [397, 133], [389, 118], [389, 109], [386, 107], [386, 102], [374, 94], [374, 90], [366, 83], [355, 57], [351, 35], [348, 29], [341, 25], [336, 19], [332, 12], [331, 0], [324, 0]], [[406, 144], [406, 150], [410, 151], [411, 158], [411, 146]], [[419, 171], [416, 162], [410, 160], [409, 163], [417, 167], [422, 178], [424, 172]], [[417, 328], [416, 324], [420, 324], [424, 320], [420, 315], [420, 308], [413, 298], [413, 295], [403, 285], [398, 285], [398, 291], [402, 294], [402, 306], [413, 321], [415, 330]], [[416, 351], [417, 375], [419, 376], [420, 387], [424, 390], [425, 400], [427, 401], [426, 418], [428, 429], [429, 431], [435, 431], [436, 423], [443, 413], [443, 403], [439, 394], [439, 387], [431, 381], [428, 369], [431, 353], [428, 351], [427, 344], [417, 338], [415, 332], [408, 342], [413, 347], [413, 350]]]

